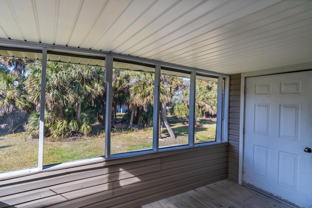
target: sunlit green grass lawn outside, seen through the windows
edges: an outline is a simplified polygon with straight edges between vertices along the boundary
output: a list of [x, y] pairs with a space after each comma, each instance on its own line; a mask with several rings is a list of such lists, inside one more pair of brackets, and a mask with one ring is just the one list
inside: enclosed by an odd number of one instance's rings
[[[121, 115], [117, 115], [118, 118]], [[165, 126], [159, 147], [185, 145], [188, 143], [188, 125], [185, 120], [168, 117], [176, 139], [169, 137]], [[195, 127], [195, 143], [215, 140], [215, 121], [202, 119], [202, 126]], [[152, 149], [153, 128], [112, 132], [111, 153]], [[75, 137], [66, 141], [44, 141], [44, 165], [57, 164], [104, 155], [104, 133], [98, 136]], [[0, 137], [0, 172], [36, 167], [38, 164], [38, 139], [29, 139], [25, 133]]]

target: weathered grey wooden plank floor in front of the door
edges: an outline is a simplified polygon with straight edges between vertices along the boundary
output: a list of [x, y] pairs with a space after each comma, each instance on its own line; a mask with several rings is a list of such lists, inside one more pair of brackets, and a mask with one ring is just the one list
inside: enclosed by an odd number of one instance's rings
[[139, 208], [292, 208], [282, 202], [236, 184], [219, 181], [162, 199]]

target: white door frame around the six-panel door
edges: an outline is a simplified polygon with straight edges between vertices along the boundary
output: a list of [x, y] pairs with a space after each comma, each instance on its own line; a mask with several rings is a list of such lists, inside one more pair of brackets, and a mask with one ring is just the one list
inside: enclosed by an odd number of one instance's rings
[[303, 64], [294, 64], [285, 67], [277, 67], [272, 69], [246, 72], [241, 74], [240, 84], [240, 116], [239, 116], [239, 158], [238, 158], [238, 184], [243, 183], [243, 164], [244, 164], [244, 127], [245, 127], [245, 86], [246, 78], [252, 76], [264, 76], [264, 75], [275, 75], [289, 72], [299, 72], [304, 70], [311, 70], [312, 62]]

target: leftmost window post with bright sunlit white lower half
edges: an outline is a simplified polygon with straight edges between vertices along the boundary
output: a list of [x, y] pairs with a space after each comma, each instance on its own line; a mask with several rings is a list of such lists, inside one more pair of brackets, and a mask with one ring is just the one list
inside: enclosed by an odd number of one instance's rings
[[40, 120], [39, 120], [39, 147], [38, 147], [38, 169], [43, 169], [43, 138], [44, 138], [44, 105], [45, 105], [45, 84], [47, 72], [47, 49], [42, 48], [41, 63], [41, 92], [40, 92]]

